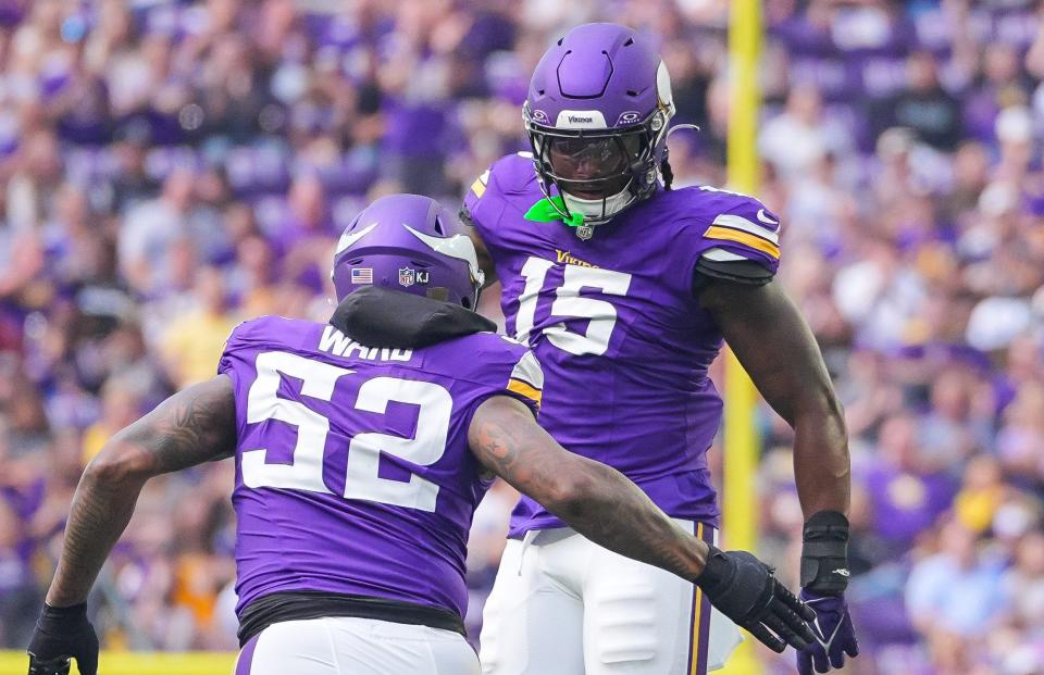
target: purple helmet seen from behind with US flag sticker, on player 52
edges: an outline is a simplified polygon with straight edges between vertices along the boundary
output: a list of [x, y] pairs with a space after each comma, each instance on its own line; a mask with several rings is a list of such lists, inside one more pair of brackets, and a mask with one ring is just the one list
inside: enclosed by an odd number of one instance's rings
[[337, 242], [332, 277], [338, 302], [384, 286], [469, 310], [485, 280], [464, 226], [420, 195], [389, 195], [363, 209]]

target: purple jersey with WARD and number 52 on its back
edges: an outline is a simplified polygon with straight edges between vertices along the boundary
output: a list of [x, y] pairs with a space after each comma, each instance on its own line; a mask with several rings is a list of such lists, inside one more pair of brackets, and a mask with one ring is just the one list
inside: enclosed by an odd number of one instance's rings
[[475, 409], [506, 395], [534, 412], [524, 347], [476, 333], [375, 349], [333, 326], [265, 316], [233, 330], [236, 591], [325, 591], [467, 609], [464, 557], [488, 487], [468, 447]]

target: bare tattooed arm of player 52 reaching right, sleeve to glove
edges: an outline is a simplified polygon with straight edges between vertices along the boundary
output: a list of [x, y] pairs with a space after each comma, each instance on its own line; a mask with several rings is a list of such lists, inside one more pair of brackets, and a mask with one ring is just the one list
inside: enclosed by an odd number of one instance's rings
[[703, 572], [706, 543], [620, 472], [562, 449], [520, 402], [497, 397], [483, 403], [469, 442], [489, 471], [595, 543], [686, 579]]

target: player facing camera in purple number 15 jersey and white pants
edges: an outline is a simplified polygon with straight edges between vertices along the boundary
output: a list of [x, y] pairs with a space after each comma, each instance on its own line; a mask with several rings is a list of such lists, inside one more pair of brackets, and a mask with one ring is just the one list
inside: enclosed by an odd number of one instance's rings
[[[817, 640], [798, 666], [825, 672], [857, 653], [843, 595], [843, 412], [811, 332], [773, 282], [779, 218], [745, 195], [672, 189], [673, 114], [650, 36], [576, 27], [530, 83], [532, 152], [478, 176], [461, 214], [486, 278], [502, 284], [508, 334], [546, 374], [542, 425], [711, 540], [719, 511], [706, 453], [722, 403], [707, 368], [729, 343], [795, 432], [800, 583], [817, 611]], [[703, 674], [738, 641], [698, 588], [584, 539], [529, 497], [510, 536], [485, 609], [484, 673]]]

